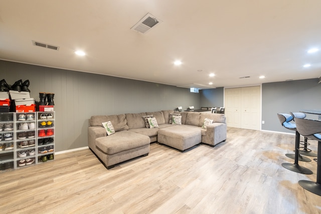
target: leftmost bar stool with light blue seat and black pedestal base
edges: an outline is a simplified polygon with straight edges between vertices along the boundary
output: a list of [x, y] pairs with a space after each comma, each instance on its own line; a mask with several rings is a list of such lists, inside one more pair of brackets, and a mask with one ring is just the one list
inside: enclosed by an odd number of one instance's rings
[[[285, 113], [278, 113], [277, 114], [281, 124], [283, 127], [295, 131], [295, 152], [294, 152], [294, 163], [282, 163], [282, 166], [288, 170], [302, 173], [302, 174], [312, 174], [313, 172], [305, 168], [303, 166], [300, 166], [298, 163], [299, 160], [299, 146], [300, 146], [300, 134], [296, 130], [296, 126], [294, 123], [290, 123], [290, 121], [293, 120], [293, 116], [290, 114], [285, 114]], [[285, 154], [287, 157], [289, 154]], [[302, 157], [303, 158], [303, 157]], [[306, 158], [308, 159], [308, 158]], [[311, 160], [310, 160], [311, 161]]]

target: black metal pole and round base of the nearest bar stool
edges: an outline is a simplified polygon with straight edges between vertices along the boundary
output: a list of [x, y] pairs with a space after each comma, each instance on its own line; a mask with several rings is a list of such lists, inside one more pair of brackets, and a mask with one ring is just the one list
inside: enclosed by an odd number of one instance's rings
[[299, 180], [304, 189], [321, 196], [321, 141], [317, 142], [316, 182]]

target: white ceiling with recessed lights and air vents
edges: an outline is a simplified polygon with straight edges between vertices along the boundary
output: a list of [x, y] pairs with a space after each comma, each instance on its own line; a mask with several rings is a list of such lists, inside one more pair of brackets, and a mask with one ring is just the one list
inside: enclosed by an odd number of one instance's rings
[[[147, 13], [163, 23], [130, 30]], [[202, 89], [318, 78], [321, 1], [0, 1], [0, 59]]]

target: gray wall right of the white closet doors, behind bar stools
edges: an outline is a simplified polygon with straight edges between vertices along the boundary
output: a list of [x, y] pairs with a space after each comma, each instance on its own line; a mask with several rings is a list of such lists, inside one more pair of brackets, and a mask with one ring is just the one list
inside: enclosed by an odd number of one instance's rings
[[[281, 126], [277, 113], [321, 109], [321, 84], [317, 82], [318, 79], [307, 79], [262, 84], [262, 130], [293, 133]], [[307, 118], [317, 116], [307, 114]]]

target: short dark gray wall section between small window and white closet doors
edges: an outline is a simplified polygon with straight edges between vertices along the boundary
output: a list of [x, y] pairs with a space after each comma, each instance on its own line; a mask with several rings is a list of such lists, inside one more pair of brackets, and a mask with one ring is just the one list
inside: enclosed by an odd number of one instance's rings
[[201, 90], [200, 100], [201, 107], [224, 107], [224, 88]]

